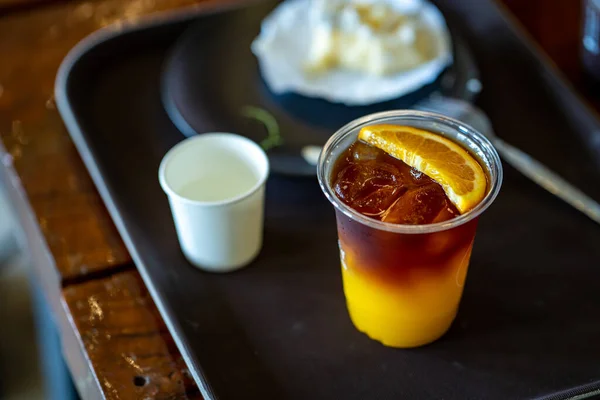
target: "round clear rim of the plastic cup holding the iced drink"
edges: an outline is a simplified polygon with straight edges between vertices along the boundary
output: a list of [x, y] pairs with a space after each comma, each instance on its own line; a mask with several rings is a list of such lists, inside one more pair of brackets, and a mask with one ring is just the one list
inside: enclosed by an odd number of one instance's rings
[[[456, 218], [450, 219], [448, 221], [425, 225], [402, 225], [378, 221], [361, 214], [360, 212], [356, 211], [355, 209], [342, 202], [333, 192], [332, 186], [330, 184], [330, 176], [325, 176], [327, 170], [325, 166], [328, 161], [329, 154], [342, 139], [344, 139], [347, 135], [352, 134], [356, 129], [362, 126], [376, 123], [379, 120], [391, 118], [421, 118], [433, 120], [437, 123], [445, 125], [446, 127], [454, 129], [463, 135], [468, 136], [469, 139], [477, 145], [479, 150], [485, 153], [486, 158], [488, 158], [488, 162], [490, 162], [491, 164], [490, 167], [488, 167], [487, 165], [484, 166], [486, 170], [488, 170], [488, 176], [490, 178], [490, 182], [488, 182], [488, 184], [490, 185], [490, 189], [483, 198], [483, 200], [481, 200], [481, 202], [479, 202], [479, 204], [477, 204], [477, 206], [475, 206], [473, 209], [467, 211], [464, 214], [461, 214]], [[332, 162], [335, 162], [335, 160]], [[347, 217], [374, 229], [394, 233], [423, 234], [445, 231], [466, 224], [467, 222], [481, 215], [481, 213], [483, 213], [493, 203], [496, 196], [498, 196], [500, 187], [502, 186], [503, 171], [500, 156], [498, 155], [498, 152], [496, 151], [490, 140], [471, 126], [460, 122], [454, 118], [446, 117], [441, 114], [415, 110], [394, 110], [379, 112], [358, 118], [344, 125], [336, 133], [334, 133], [323, 147], [323, 150], [321, 151], [321, 154], [319, 156], [319, 162], [317, 164], [317, 177], [319, 179], [319, 185], [321, 186], [321, 190], [323, 190], [325, 197], [327, 197], [327, 199], [333, 204], [333, 206], [338, 211], [340, 211]]]

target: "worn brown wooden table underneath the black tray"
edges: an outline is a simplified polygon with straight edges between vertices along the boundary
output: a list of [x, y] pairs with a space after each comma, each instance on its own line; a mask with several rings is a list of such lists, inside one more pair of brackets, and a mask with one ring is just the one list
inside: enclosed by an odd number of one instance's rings
[[[578, 2], [503, 1], [580, 85]], [[84, 399], [200, 395], [56, 111], [55, 74], [68, 50], [102, 26], [209, 6], [202, 0], [0, 1], [0, 178]]]

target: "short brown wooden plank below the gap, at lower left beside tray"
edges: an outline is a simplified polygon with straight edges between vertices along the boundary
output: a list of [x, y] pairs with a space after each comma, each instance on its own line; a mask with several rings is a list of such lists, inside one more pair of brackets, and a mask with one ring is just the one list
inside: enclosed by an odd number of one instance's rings
[[70, 285], [63, 297], [107, 399], [200, 398], [137, 272]]

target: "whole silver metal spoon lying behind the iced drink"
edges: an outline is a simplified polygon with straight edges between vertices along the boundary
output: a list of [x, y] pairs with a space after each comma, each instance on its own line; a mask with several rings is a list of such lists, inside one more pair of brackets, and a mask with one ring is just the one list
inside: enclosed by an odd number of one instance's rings
[[479, 108], [466, 101], [449, 97], [432, 97], [421, 101], [415, 108], [447, 115], [471, 125], [492, 142], [506, 162], [553, 195], [563, 199], [600, 224], [600, 204], [539, 161], [534, 160], [528, 154], [496, 136], [490, 120]]

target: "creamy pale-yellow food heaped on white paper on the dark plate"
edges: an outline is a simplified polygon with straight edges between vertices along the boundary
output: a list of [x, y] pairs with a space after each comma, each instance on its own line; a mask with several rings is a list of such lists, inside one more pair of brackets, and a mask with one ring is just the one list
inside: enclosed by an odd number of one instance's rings
[[314, 26], [305, 68], [342, 68], [372, 75], [415, 68], [435, 57], [434, 40], [420, 8], [400, 12], [386, 2], [313, 0]]

